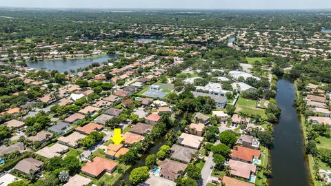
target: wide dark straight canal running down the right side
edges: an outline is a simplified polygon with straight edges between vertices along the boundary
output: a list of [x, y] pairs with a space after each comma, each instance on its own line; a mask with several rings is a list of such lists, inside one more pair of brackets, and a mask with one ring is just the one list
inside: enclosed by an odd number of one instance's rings
[[303, 134], [298, 114], [293, 107], [296, 98], [294, 83], [290, 79], [277, 81], [277, 105], [281, 108], [279, 124], [274, 126], [271, 147], [271, 186], [308, 186], [310, 174], [304, 152]]

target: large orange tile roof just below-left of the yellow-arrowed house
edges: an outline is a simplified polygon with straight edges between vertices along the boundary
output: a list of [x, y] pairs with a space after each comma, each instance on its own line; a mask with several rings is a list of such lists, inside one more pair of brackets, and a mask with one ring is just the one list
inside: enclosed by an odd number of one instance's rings
[[86, 163], [86, 165], [81, 168], [81, 171], [94, 177], [99, 177], [102, 172], [112, 172], [116, 165], [117, 163], [114, 161], [97, 156], [93, 159], [93, 161]]

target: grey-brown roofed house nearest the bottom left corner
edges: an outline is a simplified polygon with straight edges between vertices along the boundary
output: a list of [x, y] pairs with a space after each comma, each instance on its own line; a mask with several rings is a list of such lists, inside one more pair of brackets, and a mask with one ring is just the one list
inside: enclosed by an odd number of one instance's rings
[[15, 165], [14, 169], [16, 169], [19, 172], [22, 172], [23, 174], [36, 174], [41, 170], [41, 166], [43, 165], [42, 161], [38, 161], [34, 158], [25, 158], [17, 165]]

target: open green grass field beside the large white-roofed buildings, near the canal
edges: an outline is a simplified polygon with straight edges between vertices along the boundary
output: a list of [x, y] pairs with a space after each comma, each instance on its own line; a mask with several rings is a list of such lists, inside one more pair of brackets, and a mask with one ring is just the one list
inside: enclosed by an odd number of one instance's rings
[[237, 108], [236, 112], [245, 112], [246, 114], [257, 114], [261, 116], [262, 118], [267, 118], [265, 115], [265, 112], [261, 108], [257, 108], [257, 101], [250, 100], [250, 99], [243, 99], [239, 97], [237, 101]]

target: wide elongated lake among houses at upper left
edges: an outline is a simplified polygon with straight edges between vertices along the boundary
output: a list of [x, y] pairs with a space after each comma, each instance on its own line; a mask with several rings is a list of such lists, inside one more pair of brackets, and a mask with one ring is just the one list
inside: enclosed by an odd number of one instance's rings
[[30, 68], [57, 70], [59, 72], [70, 72], [70, 70], [77, 70], [78, 68], [85, 68], [92, 63], [103, 63], [108, 59], [117, 59], [117, 54], [110, 54], [99, 56], [92, 59], [67, 59], [54, 61], [28, 61], [26, 64]]

